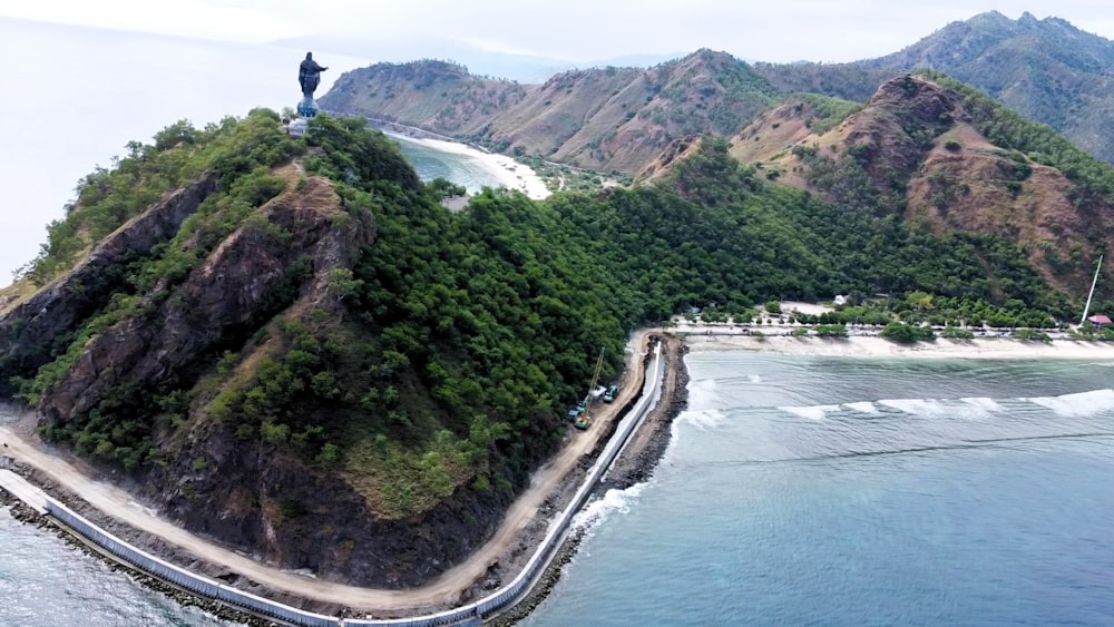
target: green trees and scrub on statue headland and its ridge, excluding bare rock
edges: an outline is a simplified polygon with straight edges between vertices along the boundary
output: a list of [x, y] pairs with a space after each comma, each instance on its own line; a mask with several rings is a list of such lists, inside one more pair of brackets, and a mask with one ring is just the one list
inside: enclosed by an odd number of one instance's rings
[[[29, 276], [53, 276], [184, 180], [215, 173], [221, 192], [174, 239], [98, 287], [94, 313], [45, 349], [50, 363], [3, 372], [23, 376], [25, 399], [50, 394], [98, 332], [173, 297], [233, 228], [253, 224], [254, 207], [282, 192], [270, 168], [291, 156], [333, 180], [336, 224], [371, 216], [377, 239], [351, 267], [331, 271], [340, 307], [290, 306], [312, 271], [301, 258], [267, 311], [224, 330], [197, 363], [46, 429], [129, 468], [173, 455], [158, 453], [156, 440], [212, 420], [346, 472], [383, 516], [407, 517], [455, 490], [506, 496], [524, 484], [564, 433], [565, 408], [583, 396], [600, 346], [606, 379], [633, 327], [692, 306], [741, 314], [778, 298], [887, 292], [912, 293], [909, 308], [925, 316], [918, 293], [973, 315], [1016, 303], [1042, 320], [1067, 311], [1000, 239], [912, 233], [870, 206], [771, 185], [722, 140], [705, 140], [656, 187], [544, 203], [488, 190], [450, 214], [439, 204], [444, 184], [420, 184], [359, 119], [319, 117], [299, 140], [270, 111], [172, 129], [85, 182]], [[267, 236], [281, 244], [286, 235]], [[843, 321], [823, 322], [832, 325], [824, 334], [841, 334]]]

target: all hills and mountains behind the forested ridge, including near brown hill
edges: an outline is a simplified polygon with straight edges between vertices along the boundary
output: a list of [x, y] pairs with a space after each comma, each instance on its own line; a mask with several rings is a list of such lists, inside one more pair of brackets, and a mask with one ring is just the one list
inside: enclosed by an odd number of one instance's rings
[[719, 137], [771, 182], [938, 234], [1004, 237], [1051, 285], [1078, 292], [1092, 272], [1079, 261], [1114, 228], [1112, 68], [1108, 40], [991, 12], [857, 63], [750, 65], [700, 50], [540, 85], [446, 61], [377, 63], [341, 76], [321, 104], [641, 178]]

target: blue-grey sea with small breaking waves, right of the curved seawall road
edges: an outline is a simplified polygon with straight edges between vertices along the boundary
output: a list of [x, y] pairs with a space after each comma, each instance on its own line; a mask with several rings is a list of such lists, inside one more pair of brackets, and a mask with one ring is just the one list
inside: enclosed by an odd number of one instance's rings
[[1114, 362], [687, 363], [527, 625], [1114, 624]]

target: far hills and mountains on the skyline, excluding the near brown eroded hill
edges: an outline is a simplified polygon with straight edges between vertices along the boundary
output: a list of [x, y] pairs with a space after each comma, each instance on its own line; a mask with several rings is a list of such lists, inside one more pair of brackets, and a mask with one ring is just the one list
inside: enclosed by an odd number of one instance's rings
[[[461, 60], [477, 49], [430, 50], [432, 57], [455, 59], [471, 72], [481, 67]], [[531, 72], [546, 69], [536, 58], [495, 57], [520, 61]], [[323, 102], [497, 148], [636, 173], [653, 160], [654, 150], [684, 134], [731, 135], [790, 94], [864, 102], [882, 81], [929, 68], [983, 89], [1084, 150], [1114, 161], [1110, 130], [1114, 128], [1114, 42], [1057, 18], [1037, 20], [1025, 13], [1012, 20], [998, 12], [983, 13], [948, 25], [893, 55], [852, 63], [750, 65], [706, 50], [647, 69], [652, 60], [642, 59], [641, 68], [616, 69], [618, 65], [612, 63], [609, 69], [567, 70], [538, 84], [520, 80], [519, 85], [480, 79], [463, 67], [450, 77], [444, 74], [448, 66], [423, 68], [409, 62], [393, 71], [390, 65], [378, 63], [342, 77]], [[498, 66], [483, 67], [489, 68], [483, 74], [498, 76]], [[433, 82], [408, 82], [407, 77], [419, 75]], [[745, 85], [739, 85], [740, 80]], [[459, 110], [446, 110], [453, 100], [457, 109], [471, 109], [467, 119]], [[613, 107], [619, 107], [620, 115]], [[524, 115], [527, 110], [530, 116]], [[712, 119], [715, 124], [704, 124]], [[561, 139], [559, 144], [554, 143], [555, 136]], [[566, 146], [567, 141], [571, 144]]]

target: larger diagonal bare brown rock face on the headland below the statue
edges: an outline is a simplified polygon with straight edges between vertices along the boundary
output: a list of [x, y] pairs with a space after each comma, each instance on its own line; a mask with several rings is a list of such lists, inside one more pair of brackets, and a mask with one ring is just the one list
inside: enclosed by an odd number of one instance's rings
[[[213, 354], [236, 330], [255, 327], [300, 300], [328, 301], [329, 273], [346, 267], [374, 226], [352, 221], [334, 227], [340, 198], [331, 184], [311, 177], [301, 192], [282, 194], [237, 228], [178, 286], [156, 290], [128, 316], [94, 336], [74, 366], [46, 394], [39, 410], [65, 422], [89, 412], [109, 390], [152, 389]], [[125, 226], [121, 236], [130, 228]], [[302, 257], [306, 278], [290, 276]], [[283, 286], [294, 281], [296, 285]], [[293, 290], [291, 290], [293, 288]], [[68, 308], [68, 307], [63, 307]]]

